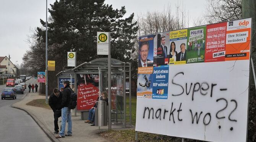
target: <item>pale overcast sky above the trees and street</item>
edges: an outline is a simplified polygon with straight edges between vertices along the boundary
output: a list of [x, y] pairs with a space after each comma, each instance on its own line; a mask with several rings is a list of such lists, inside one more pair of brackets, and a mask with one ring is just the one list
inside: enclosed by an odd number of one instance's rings
[[[175, 9], [175, 4], [181, 0], [106, 0], [113, 8], [125, 6], [127, 16], [135, 16], [147, 11], [163, 11], [168, 4]], [[41, 27], [40, 19], [45, 21], [46, 0], [1, 0], [0, 1], [0, 56], [10, 54], [11, 62], [22, 63], [22, 57], [29, 50], [27, 43], [30, 30]], [[48, 8], [55, 0], [48, 0]], [[191, 18], [201, 16], [205, 10], [206, 0], [183, 0]], [[49, 15], [49, 13], [48, 13]], [[192, 24], [190, 27], [193, 26]], [[37, 62], [37, 61], [35, 61]]]

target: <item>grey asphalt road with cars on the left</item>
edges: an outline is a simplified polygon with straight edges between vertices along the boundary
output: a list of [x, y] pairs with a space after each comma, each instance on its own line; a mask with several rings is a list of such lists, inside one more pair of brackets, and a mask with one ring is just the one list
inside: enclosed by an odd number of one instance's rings
[[[36, 79], [27, 80], [27, 86], [29, 83], [35, 84]], [[0, 85], [0, 93], [4, 88], [6, 88], [5, 85]], [[28, 93], [28, 87], [24, 94], [17, 94], [17, 99], [0, 99], [1, 142], [51, 142], [44, 131], [26, 112], [9, 106], [21, 100], [26, 93]]]

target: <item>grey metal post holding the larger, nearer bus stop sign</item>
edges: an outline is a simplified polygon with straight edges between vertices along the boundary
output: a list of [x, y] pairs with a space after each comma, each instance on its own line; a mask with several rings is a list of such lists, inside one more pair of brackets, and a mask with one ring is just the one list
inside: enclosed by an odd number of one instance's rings
[[109, 56], [108, 56], [108, 94], [109, 94], [109, 130], [111, 130], [111, 52], [109, 32]]

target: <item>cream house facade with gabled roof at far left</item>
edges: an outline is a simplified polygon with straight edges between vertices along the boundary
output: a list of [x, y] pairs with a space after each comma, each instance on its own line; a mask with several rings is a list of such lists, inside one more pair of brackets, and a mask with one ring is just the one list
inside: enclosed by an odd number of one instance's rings
[[[8, 65], [10, 63], [10, 65]], [[0, 57], [0, 74], [16, 74], [16, 66], [10, 61], [7, 56]]]

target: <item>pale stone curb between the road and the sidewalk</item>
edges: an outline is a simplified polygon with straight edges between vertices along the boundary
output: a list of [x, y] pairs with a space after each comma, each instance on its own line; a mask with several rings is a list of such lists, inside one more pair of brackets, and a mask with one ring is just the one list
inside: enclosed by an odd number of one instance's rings
[[[21, 99], [23, 100], [26, 96], [28, 95], [28, 93], [26, 93], [26, 95]], [[19, 101], [21, 101], [19, 100]], [[17, 101], [17, 102], [19, 102]], [[17, 103], [15, 102], [15, 103]], [[37, 125], [44, 131], [44, 133], [46, 134], [47, 137], [49, 137], [49, 139], [52, 141], [52, 142], [60, 142], [60, 140], [56, 139], [55, 136], [44, 126], [43, 123], [41, 123], [41, 121], [39, 121], [35, 115], [33, 115], [32, 113], [29, 113], [27, 110], [25, 109], [22, 109], [20, 107], [14, 107], [12, 106], [14, 103], [10, 104], [9, 106], [10, 107], [13, 107], [15, 109], [20, 109], [20, 110], [23, 110], [24, 112], [26, 112], [29, 116], [31, 116], [31, 118], [37, 123]]]

